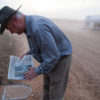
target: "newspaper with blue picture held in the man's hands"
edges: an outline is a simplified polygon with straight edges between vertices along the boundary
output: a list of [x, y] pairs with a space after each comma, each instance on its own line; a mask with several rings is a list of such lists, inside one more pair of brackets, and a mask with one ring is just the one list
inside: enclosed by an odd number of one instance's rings
[[28, 71], [28, 67], [33, 67], [32, 55], [25, 55], [22, 59], [10, 56], [8, 79], [24, 80], [24, 73]]

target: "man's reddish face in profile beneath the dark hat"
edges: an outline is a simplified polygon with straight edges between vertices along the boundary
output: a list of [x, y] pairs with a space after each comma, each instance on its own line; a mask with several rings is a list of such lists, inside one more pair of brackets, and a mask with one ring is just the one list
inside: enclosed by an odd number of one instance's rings
[[25, 31], [22, 20], [15, 17], [10, 19], [6, 28], [11, 32], [11, 34], [16, 33], [20, 35]]

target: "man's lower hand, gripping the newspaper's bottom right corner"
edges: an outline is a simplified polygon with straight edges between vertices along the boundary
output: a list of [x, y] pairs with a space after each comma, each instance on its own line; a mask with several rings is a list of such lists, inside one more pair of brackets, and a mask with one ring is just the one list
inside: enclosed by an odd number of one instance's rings
[[28, 70], [29, 71], [24, 74], [24, 79], [31, 81], [37, 76], [37, 74], [35, 72], [35, 68], [29, 67]]

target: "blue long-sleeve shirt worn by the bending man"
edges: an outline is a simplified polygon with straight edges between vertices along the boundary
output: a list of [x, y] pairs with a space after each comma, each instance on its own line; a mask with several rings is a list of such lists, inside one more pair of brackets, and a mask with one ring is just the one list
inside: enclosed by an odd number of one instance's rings
[[72, 54], [70, 41], [48, 18], [26, 16], [26, 35], [30, 53], [41, 63], [35, 69], [37, 74], [50, 72], [61, 56]]

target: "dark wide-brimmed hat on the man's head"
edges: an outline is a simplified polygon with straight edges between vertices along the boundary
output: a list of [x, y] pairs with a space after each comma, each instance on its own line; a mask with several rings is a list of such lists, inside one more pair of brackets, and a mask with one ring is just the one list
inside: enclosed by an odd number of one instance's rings
[[[22, 5], [20, 5], [21, 7]], [[1, 10], [0, 10], [0, 34], [2, 35], [9, 20], [11, 19], [11, 17], [16, 14], [16, 12], [20, 9], [20, 7], [17, 10], [14, 10], [8, 6], [4, 6]]]

